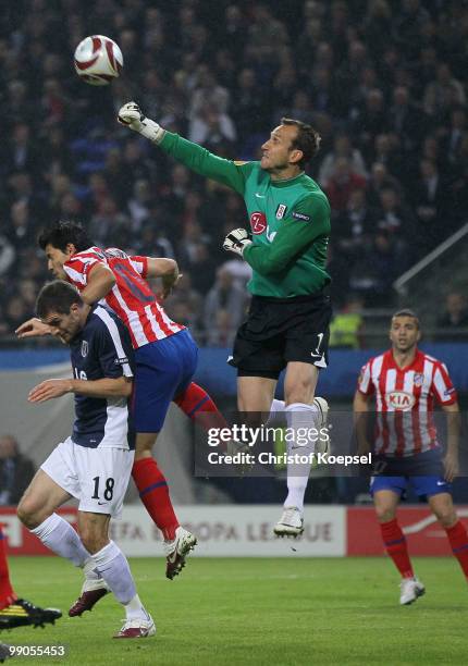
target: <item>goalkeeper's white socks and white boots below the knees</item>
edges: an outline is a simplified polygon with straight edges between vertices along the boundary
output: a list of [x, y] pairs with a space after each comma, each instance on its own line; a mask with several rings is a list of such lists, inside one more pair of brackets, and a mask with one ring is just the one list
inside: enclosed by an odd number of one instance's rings
[[[278, 400], [276, 400], [278, 403]], [[278, 411], [278, 404], [275, 405]], [[284, 409], [287, 427], [294, 432], [298, 429], [308, 431], [311, 427], [320, 430], [327, 425], [329, 405], [324, 398], [317, 397], [311, 405], [293, 404]], [[278, 417], [273, 417], [278, 418]], [[309, 456], [315, 452], [316, 443], [295, 440], [288, 447], [288, 454]], [[276, 536], [297, 538], [304, 532], [304, 495], [312, 461], [291, 462], [287, 465], [287, 497], [280, 520], [273, 528]]]

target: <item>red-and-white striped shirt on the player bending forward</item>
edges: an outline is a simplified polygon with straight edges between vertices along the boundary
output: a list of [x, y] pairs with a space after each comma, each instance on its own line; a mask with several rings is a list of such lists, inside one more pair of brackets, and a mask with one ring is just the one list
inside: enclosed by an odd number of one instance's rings
[[168, 317], [146, 282], [146, 257], [128, 257], [116, 247], [90, 247], [73, 255], [63, 264], [63, 270], [69, 282], [83, 291], [98, 263], [107, 266], [114, 274], [115, 284], [104, 300], [127, 326], [135, 349], [185, 328]]

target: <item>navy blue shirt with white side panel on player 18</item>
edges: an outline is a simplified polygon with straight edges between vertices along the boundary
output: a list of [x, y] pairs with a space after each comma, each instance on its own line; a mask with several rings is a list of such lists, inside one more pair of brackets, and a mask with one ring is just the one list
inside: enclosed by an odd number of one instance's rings
[[[134, 375], [128, 331], [109, 308], [95, 306], [83, 330], [70, 343], [73, 377], [79, 380]], [[72, 441], [90, 448], [135, 448], [128, 399], [75, 394]]]

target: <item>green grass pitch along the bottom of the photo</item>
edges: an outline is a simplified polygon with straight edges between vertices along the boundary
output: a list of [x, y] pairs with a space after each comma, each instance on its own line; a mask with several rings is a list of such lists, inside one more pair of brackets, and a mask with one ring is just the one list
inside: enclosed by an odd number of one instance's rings
[[[427, 594], [398, 605], [398, 577], [384, 558], [192, 559], [174, 581], [163, 560], [133, 559], [141, 600], [158, 633], [112, 640], [123, 614], [111, 595], [82, 618], [15, 629], [13, 644], [65, 643], [65, 659], [11, 664], [130, 666], [224, 664], [399, 666], [467, 663], [468, 590], [451, 558], [415, 559]], [[66, 616], [79, 572], [59, 558], [12, 558], [16, 591]], [[10, 662], [8, 662], [10, 664]]]

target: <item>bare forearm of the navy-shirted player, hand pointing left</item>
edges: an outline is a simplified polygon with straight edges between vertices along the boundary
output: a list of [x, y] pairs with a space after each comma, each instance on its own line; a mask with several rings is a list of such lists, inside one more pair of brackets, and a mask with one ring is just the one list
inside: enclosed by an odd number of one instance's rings
[[29, 403], [46, 403], [67, 393], [76, 393], [88, 397], [112, 398], [130, 397], [132, 378], [103, 378], [99, 380], [50, 379], [37, 384], [29, 391]]

